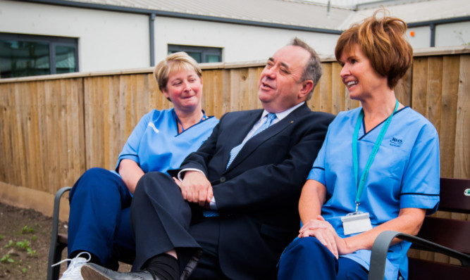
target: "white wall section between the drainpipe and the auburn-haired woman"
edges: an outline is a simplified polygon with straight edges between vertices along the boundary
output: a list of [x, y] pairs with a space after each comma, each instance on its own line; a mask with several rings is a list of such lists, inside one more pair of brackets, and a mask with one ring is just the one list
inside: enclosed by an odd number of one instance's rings
[[224, 62], [267, 60], [294, 37], [319, 54], [331, 55], [339, 35], [157, 17], [155, 59], [160, 61], [166, 56], [168, 44], [177, 44], [223, 48]]

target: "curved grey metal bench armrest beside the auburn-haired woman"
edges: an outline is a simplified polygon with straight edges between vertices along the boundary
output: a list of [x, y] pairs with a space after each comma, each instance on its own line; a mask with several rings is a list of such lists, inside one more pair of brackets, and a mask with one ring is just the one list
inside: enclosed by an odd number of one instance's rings
[[385, 273], [385, 260], [387, 260], [388, 248], [390, 243], [394, 238], [400, 238], [405, 241], [417, 244], [422, 248], [431, 250], [437, 253], [443, 253], [450, 257], [454, 257], [459, 260], [464, 267], [470, 266], [470, 255], [460, 253], [456, 250], [440, 246], [437, 243], [427, 241], [426, 239], [419, 238], [417, 236], [412, 236], [409, 234], [404, 234], [397, 231], [383, 231], [376, 238], [376, 241], [373, 242], [372, 253], [371, 253], [371, 267], [369, 269], [369, 280], [383, 280]]

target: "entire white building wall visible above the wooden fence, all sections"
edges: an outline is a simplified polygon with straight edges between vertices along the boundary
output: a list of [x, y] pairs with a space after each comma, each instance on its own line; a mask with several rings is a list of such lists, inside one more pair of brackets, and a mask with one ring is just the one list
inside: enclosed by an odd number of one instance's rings
[[[0, 0], [0, 32], [78, 38], [80, 71], [150, 65], [148, 15]], [[224, 62], [266, 60], [293, 37], [303, 39], [320, 55], [333, 56], [339, 37], [165, 17], [156, 17], [154, 35], [155, 63], [166, 56], [168, 44], [219, 47]], [[430, 46], [429, 27], [410, 28], [407, 37], [414, 49]], [[436, 25], [435, 46], [469, 42], [470, 23]]]

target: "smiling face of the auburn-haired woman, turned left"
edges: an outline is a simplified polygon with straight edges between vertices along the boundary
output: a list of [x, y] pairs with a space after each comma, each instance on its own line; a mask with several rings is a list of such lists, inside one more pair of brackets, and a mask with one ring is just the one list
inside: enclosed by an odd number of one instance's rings
[[359, 45], [355, 44], [340, 57], [342, 82], [350, 91], [350, 98], [364, 101], [374, 93], [388, 88], [387, 77], [378, 74], [371, 66], [369, 58], [364, 56]]

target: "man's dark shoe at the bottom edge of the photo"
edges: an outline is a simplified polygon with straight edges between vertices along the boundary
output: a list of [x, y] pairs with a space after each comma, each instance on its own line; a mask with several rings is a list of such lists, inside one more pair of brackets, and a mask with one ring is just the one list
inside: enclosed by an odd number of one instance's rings
[[160, 280], [159, 277], [144, 270], [142, 272], [115, 272], [94, 263], [87, 263], [80, 269], [84, 280]]

